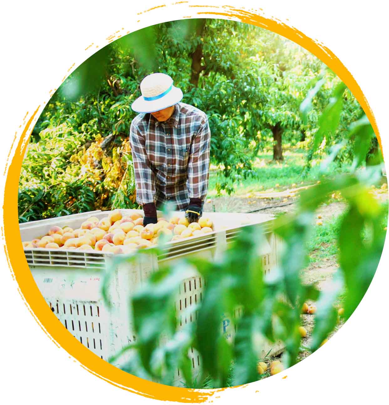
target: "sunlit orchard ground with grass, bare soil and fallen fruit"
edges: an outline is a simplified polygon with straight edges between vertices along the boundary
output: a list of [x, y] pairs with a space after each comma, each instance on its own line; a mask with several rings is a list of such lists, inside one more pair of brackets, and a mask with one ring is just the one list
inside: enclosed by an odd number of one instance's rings
[[[239, 183], [235, 186], [235, 193], [231, 196], [225, 193], [217, 196], [215, 190], [217, 169], [211, 169], [210, 190], [204, 210], [226, 213], [254, 211], [275, 216], [293, 211], [296, 207], [298, 192], [317, 183], [318, 165], [313, 166], [310, 172], [304, 172], [305, 157], [306, 151], [297, 148], [286, 149], [283, 162], [272, 161], [272, 151], [262, 153], [256, 158], [259, 179], [248, 179]], [[340, 167], [336, 170], [347, 171], [347, 167]], [[372, 193], [380, 203], [388, 204], [386, 177], [383, 177], [380, 185], [372, 188]], [[318, 289], [325, 288], [325, 284], [338, 268], [336, 236], [340, 217], [345, 208], [346, 203], [342, 201], [340, 195], [335, 194], [316, 211], [315, 221], [312, 224], [314, 238], [308, 246], [309, 265], [302, 271], [301, 277], [306, 283], [316, 284]], [[317, 225], [316, 221], [321, 221], [323, 224]], [[301, 315], [301, 324], [307, 330], [307, 336], [301, 340], [302, 347], [310, 346], [310, 331], [314, 326], [314, 316]], [[336, 333], [342, 324], [340, 319], [331, 335]], [[299, 359], [302, 360], [308, 355], [308, 351], [301, 350]], [[266, 377], [267, 374], [265, 373], [263, 377]]]

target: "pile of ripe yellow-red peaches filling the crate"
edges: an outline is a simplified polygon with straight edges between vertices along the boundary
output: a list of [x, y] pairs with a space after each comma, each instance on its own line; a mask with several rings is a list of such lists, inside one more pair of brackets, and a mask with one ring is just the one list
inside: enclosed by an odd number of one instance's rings
[[135, 249], [151, 247], [163, 234], [174, 242], [189, 237], [198, 237], [212, 232], [212, 220], [201, 217], [189, 224], [185, 217], [159, 218], [156, 224], [143, 226], [143, 217], [138, 213], [122, 216], [114, 210], [99, 220], [89, 217], [80, 228], [52, 226], [47, 235], [23, 243], [24, 249], [98, 250], [114, 254], [130, 253]]

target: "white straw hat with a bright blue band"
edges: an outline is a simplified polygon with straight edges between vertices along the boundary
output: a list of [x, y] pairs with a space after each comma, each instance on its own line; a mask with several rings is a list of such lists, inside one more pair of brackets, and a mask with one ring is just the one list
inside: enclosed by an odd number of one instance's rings
[[173, 86], [173, 79], [165, 73], [153, 73], [141, 81], [142, 95], [131, 108], [137, 113], [154, 113], [182, 100], [181, 89]]

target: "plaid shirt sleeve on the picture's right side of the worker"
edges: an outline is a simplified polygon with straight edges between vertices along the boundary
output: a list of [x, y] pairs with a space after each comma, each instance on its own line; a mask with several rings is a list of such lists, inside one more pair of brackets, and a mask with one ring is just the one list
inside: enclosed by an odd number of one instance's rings
[[188, 159], [188, 197], [204, 200], [208, 192], [209, 181], [209, 144], [211, 131], [208, 119], [200, 126], [194, 136]]

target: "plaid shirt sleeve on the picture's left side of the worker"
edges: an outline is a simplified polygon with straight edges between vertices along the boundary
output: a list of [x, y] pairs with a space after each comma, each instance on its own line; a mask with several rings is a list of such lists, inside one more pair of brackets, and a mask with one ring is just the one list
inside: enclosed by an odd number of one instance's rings
[[145, 139], [139, 129], [132, 123], [130, 126], [130, 145], [133, 155], [137, 203], [142, 206], [153, 203], [155, 196], [155, 175], [151, 170], [150, 161], [147, 158]]

